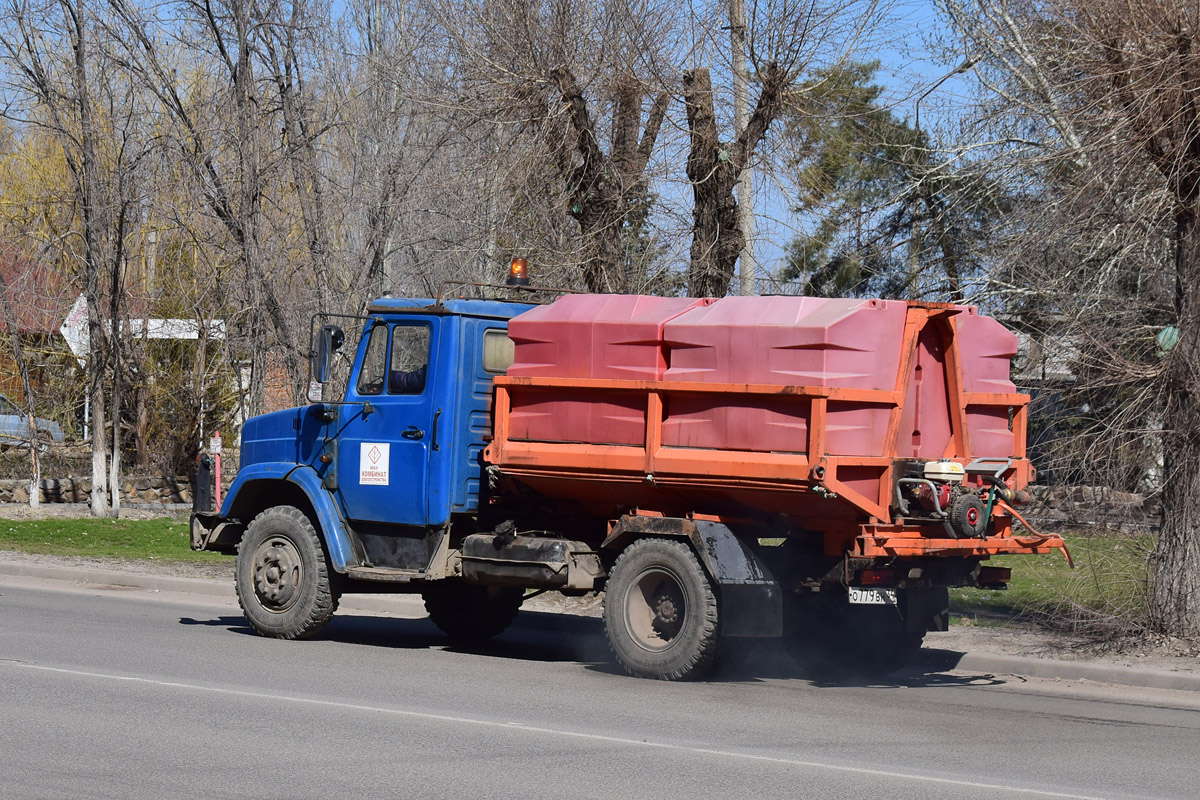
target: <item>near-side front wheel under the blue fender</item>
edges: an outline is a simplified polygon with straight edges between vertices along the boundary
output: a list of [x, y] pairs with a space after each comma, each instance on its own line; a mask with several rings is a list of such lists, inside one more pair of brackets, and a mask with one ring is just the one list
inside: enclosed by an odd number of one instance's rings
[[238, 602], [263, 636], [316, 634], [337, 610], [341, 585], [312, 522], [299, 509], [268, 509], [246, 527], [238, 546]]

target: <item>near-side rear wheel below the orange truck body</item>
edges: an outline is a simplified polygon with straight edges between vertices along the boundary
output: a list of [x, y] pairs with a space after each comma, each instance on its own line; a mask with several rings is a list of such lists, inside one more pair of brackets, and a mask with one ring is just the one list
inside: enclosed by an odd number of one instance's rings
[[642, 539], [625, 548], [605, 587], [604, 622], [608, 646], [635, 678], [703, 678], [716, 660], [716, 594], [683, 542]]

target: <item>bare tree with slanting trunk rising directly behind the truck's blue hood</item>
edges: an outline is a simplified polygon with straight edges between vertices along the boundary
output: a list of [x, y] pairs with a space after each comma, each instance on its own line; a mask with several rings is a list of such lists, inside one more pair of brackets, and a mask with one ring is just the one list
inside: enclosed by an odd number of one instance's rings
[[[174, 25], [166, 25], [127, 0], [110, 4], [121, 25], [118, 38], [126, 43], [125, 68], [170, 120], [176, 154], [190, 166], [193, 186], [236, 252], [250, 308], [240, 319], [252, 374], [250, 408], [252, 413], [264, 408], [272, 344], [282, 353], [293, 395], [299, 397], [302, 345], [280, 287], [277, 269], [284, 265], [277, 260], [272, 264], [265, 251], [270, 225], [264, 204], [275, 167], [275, 149], [268, 136], [280, 130], [280, 120], [274, 114], [277, 98], [263, 96], [259, 77], [264, 70], [262, 35], [276, 20], [258, 17], [257, 6], [242, 2], [180, 2], [179, 18], [172, 20]], [[168, 52], [173, 58], [178, 53], [192, 54], [198, 64], [210, 59], [221, 65], [222, 74], [220, 79], [193, 74], [193, 83], [186, 84], [185, 76], [172, 66]], [[281, 79], [287, 86], [287, 77]]]

